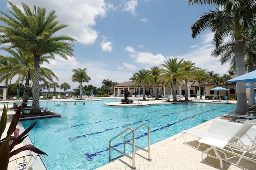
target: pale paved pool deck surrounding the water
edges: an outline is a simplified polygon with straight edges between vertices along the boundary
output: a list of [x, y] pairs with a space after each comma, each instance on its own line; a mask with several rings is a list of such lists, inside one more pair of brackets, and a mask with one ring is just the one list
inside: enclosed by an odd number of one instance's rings
[[[102, 98], [99, 98], [102, 99]], [[122, 98], [118, 98], [122, 99]], [[93, 100], [98, 100], [97, 98], [94, 98]], [[51, 101], [66, 101], [66, 99], [56, 99]], [[88, 101], [88, 100], [87, 100]], [[92, 100], [90, 100], [92, 101]], [[212, 102], [212, 100], [205, 100], [205, 101], [199, 101], [199, 102]], [[216, 103], [216, 102], [214, 102]], [[229, 101], [230, 104], [235, 104], [236, 101]], [[149, 104], [170, 104], [170, 102], [164, 102], [161, 100], [156, 101], [142, 101], [142, 105], [149, 105]], [[120, 102], [114, 102], [114, 103], [107, 103], [107, 105], [112, 106], [124, 106], [126, 104], [122, 104]], [[134, 106], [133, 104], [128, 104], [130, 106]], [[9, 106], [10, 107], [10, 106]], [[2, 108], [0, 108], [0, 115], [2, 115]], [[10, 125], [10, 121], [12, 119], [12, 115], [14, 115], [13, 110], [8, 110], [8, 121], [7, 126]], [[225, 116], [220, 116], [216, 119], [225, 119], [227, 121], [230, 121], [225, 118]], [[212, 120], [207, 121], [205, 123], [202, 123], [196, 127], [200, 130], [208, 130], [209, 125], [211, 124]], [[21, 123], [18, 123], [18, 128], [20, 128], [20, 131], [24, 130]], [[7, 131], [7, 130], [6, 130]], [[186, 141], [189, 141], [189, 143], [193, 146], [196, 146], [198, 144], [195, 136], [192, 135], [185, 135]], [[26, 138], [27, 140], [24, 141], [20, 146], [24, 145], [24, 143], [29, 144], [31, 143], [29, 138]], [[34, 141], [34, 139], [32, 139]], [[17, 146], [16, 148], [20, 147]], [[203, 170], [203, 169], [209, 169], [209, 170], [216, 170], [220, 169], [220, 160], [216, 158], [215, 154], [213, 152], [209, 152], [209, 156], [201, 161], [201, 154], [202, 151], [206, 150], [208, 148], [208, 145], [201, 144], [200, 148], [194, 149], [190, 146], [187, 146], [184, 144], [184, 140], [182, 138], [182, 134], [178, 133], [174, 136], [171, 136], [169, 138], [166, 138], [164, 140], [161, 140], [160, 142], [156, 142], [154, 144], [151, 144], [151, 158], [152, 160], [149, 161], [148, 154], [142, 150], [136, 151], [136, 158], [135, 158], [135, 166], [137, 170]], [[22, 152], [18, 155], [15, 155], [14, 158], [19, 158], [24, 156], [26, 153]], [[228, 158], [231, 156], [234, 156], [232, 154], [227, 154]], [[28, 158], [26, 158], [28, 160]], [[234, 160], [234, 161], [233, 161]], [[237, 156], [232, 157], [230, 160], [231, 162], [236, 162]], [[17, 163], [22, 162], [22, 158], [19, 158], [17, 160], [14, 160], [9, 163], [8, 170], [17, 170]], [[32, 164], [32, 165], [31, 165]], [[118, 160], [115, 160], [113, 162], [110, 162], [104, 166], [101, 166], [99, 168], [96, 168], [96, 170], [130, 170], [132, 169], [132, 160], [126, 157], [122, 157]], [[256, 167], [256, 160], [247, 160], [242, 159], [241, 162], [238, 164], [238, 166], [231, 165], [229, 163], [225, 163], [223, 161], [223, 168], [226, 170], [252, 170]], [[28, 165], [28, 170], [43, 170], [46, 169], [44, 167], [44, 164], [41, 162], [40, 158], [37, 158], [37, 160], [30, 160], [30, 163]]]

